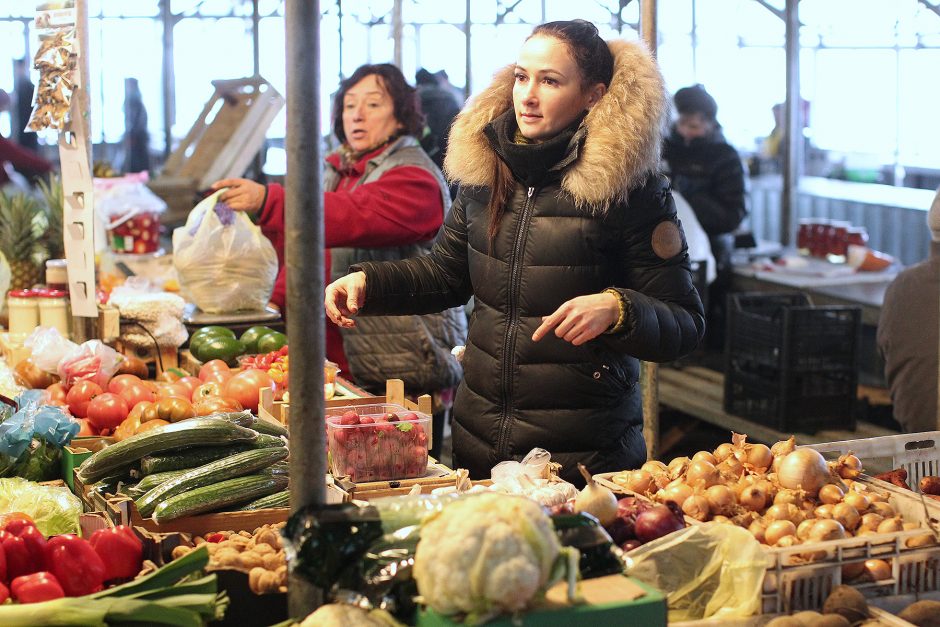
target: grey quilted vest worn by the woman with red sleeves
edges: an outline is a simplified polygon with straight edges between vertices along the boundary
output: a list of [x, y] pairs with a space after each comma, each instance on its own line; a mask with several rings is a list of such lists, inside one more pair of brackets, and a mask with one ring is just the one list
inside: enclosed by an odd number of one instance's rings
[[[440, 186], [444, 214], [450, 210], [450, 193], [437, 169], [417, 140], [401, 137], [366, 164], [356, 186], [377, 181], [395, 167], [414, 166], [434, 175]], [[339, 173], [327, 166], [324, 190], [334, 191]], [[387, 248], [333, 248], [331, 280], [344, 276], [349, 267], [363, 261], [394, 261], [426, 255], [432, 241]], [[360, 316], [352, 329], [341, 329], [343, 350], [356, 382], [367, 389], [382, 391], [387, 379], [402, 379], [409, 393], [423, 394], [460, 382], [463, 371], [450, 350], [464, 344], [467, 319], [461, 307], [422, 316]]]

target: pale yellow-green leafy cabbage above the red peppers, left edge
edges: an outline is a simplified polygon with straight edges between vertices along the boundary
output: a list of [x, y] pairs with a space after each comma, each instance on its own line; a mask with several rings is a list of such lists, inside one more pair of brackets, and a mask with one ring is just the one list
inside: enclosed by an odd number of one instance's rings
[[23, 512], [44, 536], [81, 533], [82, 502], [68, 488], [37, 485], [20, 477], [0, 479], [0, 512]]

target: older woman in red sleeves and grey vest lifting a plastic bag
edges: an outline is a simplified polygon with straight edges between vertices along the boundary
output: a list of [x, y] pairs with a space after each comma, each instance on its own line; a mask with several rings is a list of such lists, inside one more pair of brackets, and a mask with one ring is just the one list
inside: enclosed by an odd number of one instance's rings
[[[327, 279], [363, 261], [425, 255], [450, 208], [441, 171], [416, 137], [424, 129], [417, 95], [394, 65], [364, 65], [343, 81], [333, 102], [333, 133], [340, 148], [326, 157], [323, 174]], [[283, 308], [284, 188], [226, 179], [220, 197], [235, 210], [258, 215], [281, 263], [272, 300]], [[462, 305], [463, 303], [460, 303]], [[292, 313], [292, 312], [288, 312]], [[451, 355], [466, 340], [463, 309], [424, 316], [373, 318], [356, 329], [327, 324], [327, 358], [372, 392], [387, 379], [409, 394], [434, 393], [435, 451], [460, 364]]]

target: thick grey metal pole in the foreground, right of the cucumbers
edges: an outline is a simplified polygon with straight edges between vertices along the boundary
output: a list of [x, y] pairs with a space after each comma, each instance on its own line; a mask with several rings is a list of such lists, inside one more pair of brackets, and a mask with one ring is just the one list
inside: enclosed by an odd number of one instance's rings
[[[320, 1], [287, 0], [287, 332], [291, 366], [291, 510], [325, 501], [323, 429], [323, 192], [320, 162]], [[291, 576], [290, 615], [302, 619], [322, 591]]]

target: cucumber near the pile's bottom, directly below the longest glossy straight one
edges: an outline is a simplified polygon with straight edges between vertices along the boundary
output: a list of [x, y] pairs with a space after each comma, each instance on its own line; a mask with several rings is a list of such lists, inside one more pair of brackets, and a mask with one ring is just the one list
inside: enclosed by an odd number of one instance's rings
[[163, 501], [153, 511], [157, 524], [185, 516], [214, 512], [234, 503], [261, 498], [287, 487], [287, 477], [246, 475], [183, 492]]

